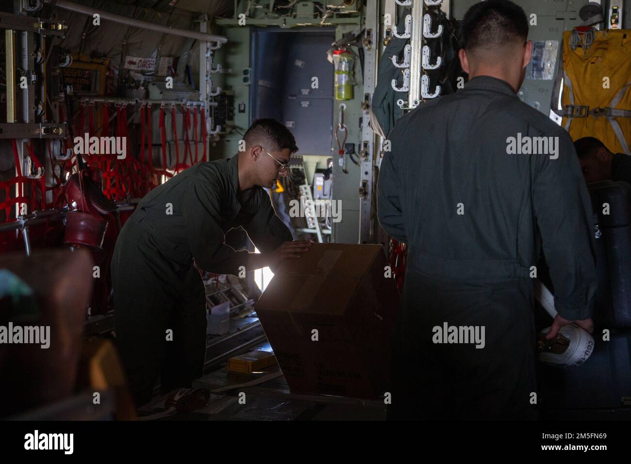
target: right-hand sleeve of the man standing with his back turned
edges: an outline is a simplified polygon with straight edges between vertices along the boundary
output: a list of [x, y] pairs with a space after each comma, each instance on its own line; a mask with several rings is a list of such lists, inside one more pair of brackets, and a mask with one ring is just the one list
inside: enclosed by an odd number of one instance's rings
[[555, 309], [570, 321], [593, 316], [596, 251], [591, 199], [574, 144], [562, 130], [558, 158], [539, 155], [533, 204], [555, 290]]

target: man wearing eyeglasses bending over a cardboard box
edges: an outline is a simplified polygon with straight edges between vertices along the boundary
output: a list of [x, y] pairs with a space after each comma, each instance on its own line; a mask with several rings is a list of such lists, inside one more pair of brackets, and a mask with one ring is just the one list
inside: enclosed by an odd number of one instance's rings
[[[298, 150], [292, 133], [275, 119], [257, 119], [243, 148], [153, 189], [117, 239], [115, 331], [137, 406], [150, 402], [158, 374], [162, 393], [191, 386], [202, 374], [206, 299], [198, 269], [244, 277], [309, 249], [309, 242], [292, 241], [264, 190], [287, 174]], [[243, 227], [261, 253], [225, 244], [234, 227]]]

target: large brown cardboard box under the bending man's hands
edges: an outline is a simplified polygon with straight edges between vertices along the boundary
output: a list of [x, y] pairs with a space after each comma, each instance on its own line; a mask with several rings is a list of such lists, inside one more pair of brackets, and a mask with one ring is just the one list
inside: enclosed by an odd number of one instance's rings
[[399, 307], [387, 265], [381, 245], [354, 244], [281, 263], [255, 307], [292, 393], [383, 398]]

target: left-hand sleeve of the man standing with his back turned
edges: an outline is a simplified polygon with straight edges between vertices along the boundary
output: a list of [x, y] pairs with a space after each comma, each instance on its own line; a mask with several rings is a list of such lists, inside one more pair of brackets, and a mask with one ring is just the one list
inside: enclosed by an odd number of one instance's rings
[[[406, 243], [404, 217], [401, 211], [401, 182], [396, 162], [400, 159], [396, 136], [390, 131], [391, 151], [384, 153], [377, 181], [377, 217], [381, 227], [394, 239]], [[394, 140], [393, 140], [394, 139]]]

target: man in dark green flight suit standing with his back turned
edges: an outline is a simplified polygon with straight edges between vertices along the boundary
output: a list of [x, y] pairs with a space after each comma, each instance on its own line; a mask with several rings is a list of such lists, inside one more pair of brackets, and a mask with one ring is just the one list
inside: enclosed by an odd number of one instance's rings
[[483, 1], [461, 27], [468, 83], [401, 117], [380, 167], [379, 221], [408, 246], [389, 418], [536, 419], [535, 265], [543, 244], [548, 337], [593, 330], [591, 203], [569, 134], [517, 98], [524, 11]]

